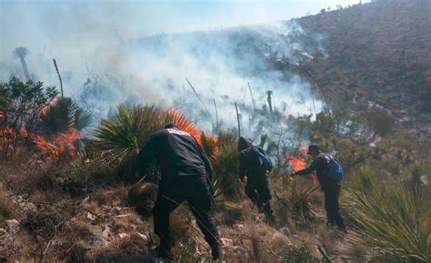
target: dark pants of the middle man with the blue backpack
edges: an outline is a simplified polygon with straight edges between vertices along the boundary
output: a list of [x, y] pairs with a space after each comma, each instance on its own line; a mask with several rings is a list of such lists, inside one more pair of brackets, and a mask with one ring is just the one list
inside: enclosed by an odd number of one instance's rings
[[259, 208], [266, 213], [266, 216], [272, 217], [272, 210], [269, 203], [271, 193], [269, 192], [268, 178], [250, 180], [246, 183], [246, 196]]

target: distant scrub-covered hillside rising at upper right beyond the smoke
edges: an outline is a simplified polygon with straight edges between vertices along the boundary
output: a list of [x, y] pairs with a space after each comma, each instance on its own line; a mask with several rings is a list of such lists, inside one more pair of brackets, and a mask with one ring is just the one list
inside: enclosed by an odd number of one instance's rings
[[384, 106], [407, 126], [431, 124], [430, 1], [375, 1], [297, 21], [325, 46], [325, 58], [303, 65], [322, 88], [351, 106]]

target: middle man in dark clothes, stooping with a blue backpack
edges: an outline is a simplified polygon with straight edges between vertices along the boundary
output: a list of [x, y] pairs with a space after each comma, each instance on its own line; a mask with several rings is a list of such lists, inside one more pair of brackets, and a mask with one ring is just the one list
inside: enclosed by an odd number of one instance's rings
[[246, 196], [259, 208], [259, 212], [264, 212], [266, 218], [274, 221], [273, 212], [269, 201], [271, 193], [269, 191], [268, 177], [272, 166], [265, 167], [258, 157], [258, 152], [266, 155], [262, 147], [256, 147], [245, 137], [239, 137], [239, 178], [246, 182]]

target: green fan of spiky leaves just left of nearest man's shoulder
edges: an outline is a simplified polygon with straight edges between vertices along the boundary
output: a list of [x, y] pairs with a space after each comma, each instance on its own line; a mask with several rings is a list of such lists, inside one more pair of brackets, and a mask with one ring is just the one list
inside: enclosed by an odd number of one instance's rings
[[120, 104], [112, 116], [95, 129], [95, 147], [110, 165], [135, 172], [135, 158], [152, 133], [162, 128], [164, 119], [155, 106]]

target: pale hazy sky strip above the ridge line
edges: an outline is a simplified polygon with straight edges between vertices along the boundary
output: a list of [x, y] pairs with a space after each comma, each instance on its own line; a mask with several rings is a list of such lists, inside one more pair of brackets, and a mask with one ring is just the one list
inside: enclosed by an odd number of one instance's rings
[[[15, 46], [103, 43], [145, 35], [271, 23], [359, 0], [0, 0], [0, 56]], [[5, 58], [5, 57], [4, 57]]]

